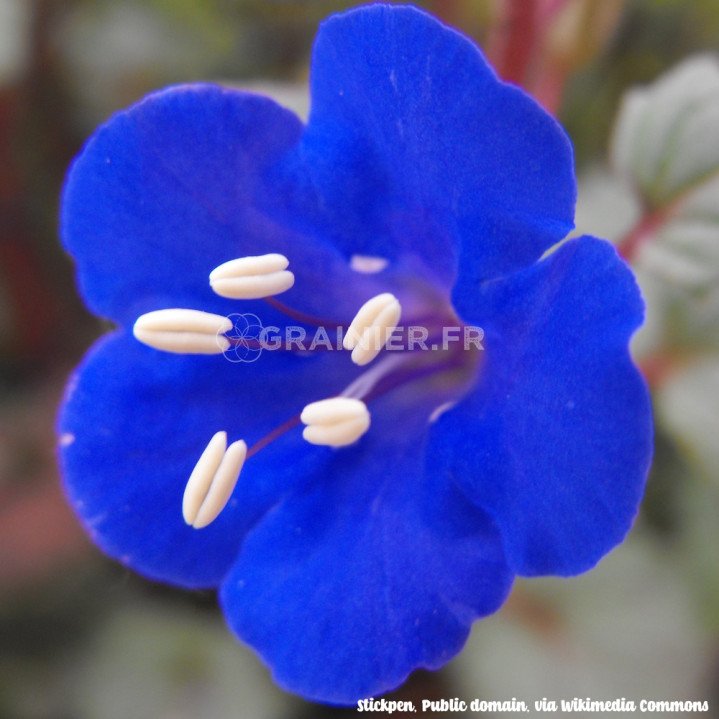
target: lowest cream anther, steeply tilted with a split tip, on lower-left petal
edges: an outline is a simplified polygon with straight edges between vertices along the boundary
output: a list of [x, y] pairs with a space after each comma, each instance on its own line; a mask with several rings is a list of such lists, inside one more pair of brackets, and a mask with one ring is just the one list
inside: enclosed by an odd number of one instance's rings
[[247, 456], [238, 440], [227, 447], [227, 433], [218, 432], [197, 460], [182, 497], [182, 516], [195, 529], [213, 522], [232, 496]]

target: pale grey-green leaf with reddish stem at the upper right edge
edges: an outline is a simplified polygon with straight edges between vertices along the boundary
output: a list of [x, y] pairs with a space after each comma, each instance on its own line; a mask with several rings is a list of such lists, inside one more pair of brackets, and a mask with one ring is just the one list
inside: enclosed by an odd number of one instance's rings
[[662, 341], [652, 344], [673, 352], [719, 346], [718, 128], [712, 55], [630, 90], [616, 123], [612, 164], [643, 209], [631, 254], [661, 325]]

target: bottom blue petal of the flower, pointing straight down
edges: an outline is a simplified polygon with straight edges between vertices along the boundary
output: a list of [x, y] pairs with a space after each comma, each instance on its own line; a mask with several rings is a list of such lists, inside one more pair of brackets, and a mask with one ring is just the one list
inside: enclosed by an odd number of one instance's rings
[[222, 587], [234, 631], [308, 699], [349, 704], [440, 667], [509, 590], [491, 520], [437, 471], [426, 415], [398, 416], [396, 399], [371, 407], [356, 446], [326, 450]]

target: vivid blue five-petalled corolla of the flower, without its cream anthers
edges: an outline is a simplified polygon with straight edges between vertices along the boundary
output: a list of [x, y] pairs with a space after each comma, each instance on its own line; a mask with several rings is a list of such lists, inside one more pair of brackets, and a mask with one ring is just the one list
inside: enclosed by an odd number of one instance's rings
[[[629, 269], [589, 237], [543, 257], [572, 228], [575, 183], [567, 138], [531, 98], [466, 38], [384, 5], [322, 26], [311, 91], [304, 126], [264, 97], [174, 87], [88, 142], [62, 235], [88, 306], [118, 329], [72, 378], [60, 444], [106, 553], [219, 587], [279, 684], [350, 703], [446, 663], [515, 575], [574, 575], [621, 542], [651, 413], [627, 347], [643, 315]], [[213, 268], [266, 253], [291, 263], [282, 303], [210, 288]], [[481, 327], [484, 350], [228, 362], [131, 331], [163, 308], [346, 327], [385, 292], [403, 325]], [[364, 436], [306, 442], [292, 418], [350, 386]], [[196, 530], [182, 495], [218, 431], [262, 449]]]

